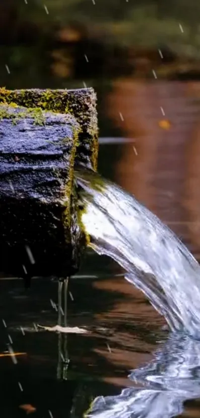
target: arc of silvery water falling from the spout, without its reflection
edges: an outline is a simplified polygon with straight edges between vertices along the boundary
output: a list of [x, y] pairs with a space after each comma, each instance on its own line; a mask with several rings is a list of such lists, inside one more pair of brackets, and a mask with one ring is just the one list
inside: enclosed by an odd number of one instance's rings
[[76, 170], [83, 206], [81, 222], [91, 246], [126, 271], [165, 316], [171, 329], [200, 337], [200, 266], [155, 215], [97, 173]]

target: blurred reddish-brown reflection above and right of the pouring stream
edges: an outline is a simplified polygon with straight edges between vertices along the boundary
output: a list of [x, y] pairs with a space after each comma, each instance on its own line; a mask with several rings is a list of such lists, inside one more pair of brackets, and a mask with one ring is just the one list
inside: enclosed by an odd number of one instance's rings
[[124, 136], [135, 138], [137, 151], [130, 143], [121, 146], [115, 180], [190, 248], [192, 241], [192, 252], [199, 257], [200, 82], [126, 78], [113, 86], [107, 98], [109, 115]]

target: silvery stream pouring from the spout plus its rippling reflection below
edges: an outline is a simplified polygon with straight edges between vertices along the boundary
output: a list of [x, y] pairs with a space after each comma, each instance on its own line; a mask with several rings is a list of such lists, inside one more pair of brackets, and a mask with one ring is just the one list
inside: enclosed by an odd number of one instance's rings
[[200, 397], [200, 266], [134, 196], [86, 169], [78, 169], [76, 178], [90, 246], [117, 261], [176, 331], [153, 361], [132, 370], [136, 387], [98, 397], [88, 417], [174, 417], [186, 400]]

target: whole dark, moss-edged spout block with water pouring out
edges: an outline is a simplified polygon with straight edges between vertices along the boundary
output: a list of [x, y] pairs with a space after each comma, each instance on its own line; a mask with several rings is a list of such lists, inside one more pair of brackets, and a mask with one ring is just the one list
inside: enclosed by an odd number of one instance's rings
[[95, 94], [88, 90], [48, 91], [52, 101], [45, 106], [41, 100], [47, 91], [0, 89], [4, 275], [29, 281], [33, 276], [65, 278], [78, 269], [84, 236], [73, 168], [77, 162], [96, 168], [98, 152]]

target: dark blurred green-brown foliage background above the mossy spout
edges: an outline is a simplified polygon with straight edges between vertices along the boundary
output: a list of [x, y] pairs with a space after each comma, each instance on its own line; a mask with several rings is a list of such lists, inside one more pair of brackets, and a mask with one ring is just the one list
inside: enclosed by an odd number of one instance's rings
[[116, 135], [103, 102], [114, 80], [200, 78], [199, 16], [199, 0], [1, 0], [0, 85], [93, 86]]

